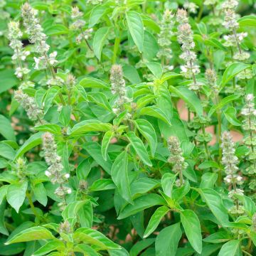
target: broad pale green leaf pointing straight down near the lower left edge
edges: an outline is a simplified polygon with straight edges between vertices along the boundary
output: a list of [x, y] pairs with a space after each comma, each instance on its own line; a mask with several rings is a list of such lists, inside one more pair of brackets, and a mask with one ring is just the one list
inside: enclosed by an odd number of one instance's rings
[[26, 198], [27, 188], [27, 181], [23, 181], [22, 183], [13, 183], [8, 186], [6, 198], [10, 206], [14, 208], [17, 213]]

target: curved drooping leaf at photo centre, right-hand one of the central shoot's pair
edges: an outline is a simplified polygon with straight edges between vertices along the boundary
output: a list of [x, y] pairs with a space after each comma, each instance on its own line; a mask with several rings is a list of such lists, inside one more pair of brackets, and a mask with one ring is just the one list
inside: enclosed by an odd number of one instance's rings
[[137, 119], [134, 122], [139, 132], [149, 143], [151, 154], [152, 156], [154, 156], [157, 146], [157, 138], [154, 127], [152, 126], [152, 124], [150, 124], [150, 122], [146, 121], [145, 119]]

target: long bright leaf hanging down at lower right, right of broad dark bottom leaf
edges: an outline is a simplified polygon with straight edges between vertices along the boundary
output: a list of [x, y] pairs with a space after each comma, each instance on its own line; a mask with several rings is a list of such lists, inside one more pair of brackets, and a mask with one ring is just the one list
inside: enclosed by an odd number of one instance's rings
[[196, 252], [201, 253], [202, 235], [198, 216], [193, 212], [193, 210], [183, 210], [181, 212], [181, 223], [191, 246], [196, 250]]

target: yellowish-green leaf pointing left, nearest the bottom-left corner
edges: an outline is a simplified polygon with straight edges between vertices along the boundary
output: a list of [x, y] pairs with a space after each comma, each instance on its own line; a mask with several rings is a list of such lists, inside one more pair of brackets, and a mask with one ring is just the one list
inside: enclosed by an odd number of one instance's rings
[[7, 240], [6, 245], [10, 245], [14, 242], [28, 242], [42, 239], [55, 239], [55, 237], [46, 228], [32, 227], [21, 231], [17, 235], [14, 235], [13, 238]]

